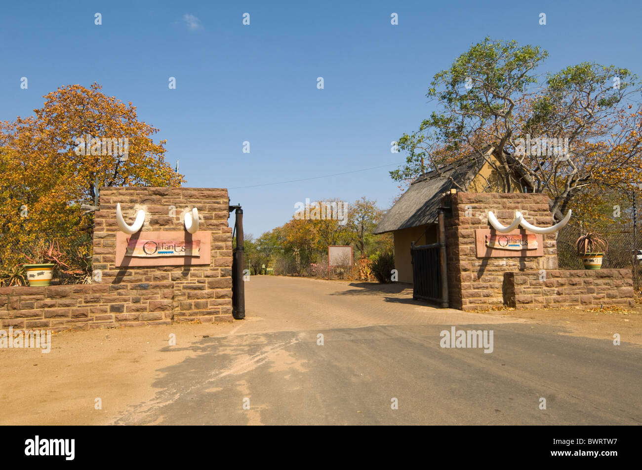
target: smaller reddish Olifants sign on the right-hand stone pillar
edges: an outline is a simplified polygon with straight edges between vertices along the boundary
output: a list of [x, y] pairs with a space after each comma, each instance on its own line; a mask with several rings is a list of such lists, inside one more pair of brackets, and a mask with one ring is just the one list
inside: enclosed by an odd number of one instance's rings
[[539, 233], [513, 230], [499, 233], [496, 230], [475, 230], [476, 256], [498, 258], [501, 256], [543, 256], [544, 241]]

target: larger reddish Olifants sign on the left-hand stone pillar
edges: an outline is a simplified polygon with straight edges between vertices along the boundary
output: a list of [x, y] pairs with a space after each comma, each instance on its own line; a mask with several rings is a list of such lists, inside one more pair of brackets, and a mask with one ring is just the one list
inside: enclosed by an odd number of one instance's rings
[[116, 233], [116, 266], [204, 265], [211, 261], [211, 232]]

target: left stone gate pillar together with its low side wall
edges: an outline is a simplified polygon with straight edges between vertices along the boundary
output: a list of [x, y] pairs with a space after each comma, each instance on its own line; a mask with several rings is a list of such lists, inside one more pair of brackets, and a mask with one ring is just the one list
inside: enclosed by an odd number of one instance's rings
[[[117, 267], [116, 204], [132, 223], [144, 209], [144, 231], [184, 231], [183, 215], [196, 207], [199, 231], [211, 231], [211, 263]], [[170, 215], [170, 206], [175, 214]], [[225, 189], [108, 187], [94, 217], [95, 274], [91, 285], [0, 289], [0, 326], [113, 328], [172, 321], [232, 321], [232, 228]]]

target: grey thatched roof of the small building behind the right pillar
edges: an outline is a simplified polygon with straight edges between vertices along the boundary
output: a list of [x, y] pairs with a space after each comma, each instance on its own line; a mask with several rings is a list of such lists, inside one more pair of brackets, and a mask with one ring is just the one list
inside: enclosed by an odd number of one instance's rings
[[[399, 198], [377, 224], [374, 233], [417, 227], [436, 221], [442, 194], [458, 187], [467, 188], [475, 175], [482, 169], [485, 159], [482, 155], [469, 156], [455, 164], [431, 171], [413, 181], [410, 188]], [[451, 180], [452, 178], [452, 180]]]

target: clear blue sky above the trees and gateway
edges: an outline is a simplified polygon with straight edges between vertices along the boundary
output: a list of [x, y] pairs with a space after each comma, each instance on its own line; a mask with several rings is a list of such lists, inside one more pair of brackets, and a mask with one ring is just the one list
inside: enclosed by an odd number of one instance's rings
[[399, 194], [388, 171], [405, 158], [390, 142], [433, 109], [432, 76], [486, 35], [544, 47], [542, 72], [586, 60], [642, 75], [640, 13], [639, 0], [3, 2], [0, 119], [98, 81], [160, 129], [186, 186], [230, 188], [258, 236], [306, 197], [388, 208]]

